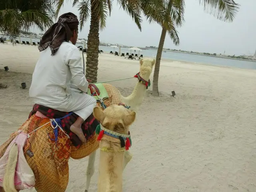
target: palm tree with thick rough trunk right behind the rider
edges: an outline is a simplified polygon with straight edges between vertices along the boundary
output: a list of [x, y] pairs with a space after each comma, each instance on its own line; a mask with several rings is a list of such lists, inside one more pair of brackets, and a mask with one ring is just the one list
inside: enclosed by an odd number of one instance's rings
[[[141, 30], [141, 13], [152, 22], [158, 22], [168, 28], [168, 23], [164, 23], [165, 15], [163, 0], [117, 0], [120, 7], [126, 11], [134, 20], [139, 30]], [[63, 6], [64, 0], [56, 0], [56, 14]], [[98, 50], [99, 50], [99, 31], [106, 26], [106, 18], [111, 14], [112, 0], [73, 0], [73, 6], [78, 6], [80, 30], [90, 16], [90, 31], [87, 42], [86, 56], [86, 78], [97, 82], [98, 71]], [[162, 13], [162, 14], [160, 14]]]

